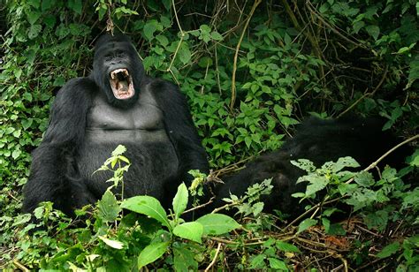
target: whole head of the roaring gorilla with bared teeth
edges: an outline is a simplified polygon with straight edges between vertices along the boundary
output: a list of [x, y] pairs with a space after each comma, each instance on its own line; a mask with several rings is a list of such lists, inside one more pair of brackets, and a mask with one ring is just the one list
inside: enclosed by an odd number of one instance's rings
[[92, 75], [110, 104], [127, 108], [141, 92], [144, 67], [126, 35], [104, 34], [95, 44]]

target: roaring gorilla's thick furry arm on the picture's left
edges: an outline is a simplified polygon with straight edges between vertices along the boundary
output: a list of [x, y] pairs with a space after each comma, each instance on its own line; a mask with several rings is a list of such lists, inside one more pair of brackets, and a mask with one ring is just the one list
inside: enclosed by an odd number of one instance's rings
[[[70, 214], [74, 204], [87, 204], [88, 190], [77, 177], [74, 155], [84, 136], [90, 79], [72, 79], [52, 104], [50, 125], [34, 150], [31, 175], [25, 185], [23, 211], [31, 212], [42, 201]], [[79, 206], [79, 205], [78, 205]]]

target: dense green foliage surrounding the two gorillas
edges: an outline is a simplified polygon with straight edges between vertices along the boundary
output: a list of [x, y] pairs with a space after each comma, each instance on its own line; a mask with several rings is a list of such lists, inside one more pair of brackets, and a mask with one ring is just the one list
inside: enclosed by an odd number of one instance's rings
[[[185, 237], [175, 232], [181, 209], [173, 207], [166, 218], [172, 223], [163, 225], [136, 214], [123, 217], [120, 205], [126, 204], [111, 194], [103, 196], [88, 228], [68, 229], [69, 221], [58, 220], [62, 215], [47, 204], [37, 216], [49, 227], [27, 235], [34, 225], [19, 208], [30, 152], [42, 138], [57, 90], [68, 79], [88, 75], [93, 43], [107, 27], [132, 37], [150, 75], [179, 84], [211, 166], [221, 173], [280, 147], [309, 114], [381, 115], [388, 118], [384, 129], [415, 135], [415, 1], [239, 2], [0, 1], [0, 268], [138, 268], [144, 263], [133, 260], [152, 244], [156, 259], [149, 260], [157, 261], [150, 268], [418, 268], [419, 191], [406, 185], [417, 152], [410, 168], [383, 170], [377, 182], [364, 172], [348, 182], [339, 171], [350, 161], [336, 162], [335, 172], [310, 170], [308, 176], [325, 178], [321, 189], [329, 193], [321, 203], [343, 199], [354, 207], [345, 224], [333, 223], [335, 211], [319, 213], [316, 205], [301, 223], [284, 225], [280, 213], [264, 215], [257, 197], [269, 193], [266, 182], [250, 188], [244, 200], [232, 197], [242, 228], [223, 238], [237, 223], [213, 236], [202, 229]], [[299, 196], [316, 195], [314, 187]], [[185, 190], [179, 192], [176, 203], [187, 200]], [[188, 227], [201, 226], [192, 221]], [[346, 238], [348, 232], [356, 238]]]

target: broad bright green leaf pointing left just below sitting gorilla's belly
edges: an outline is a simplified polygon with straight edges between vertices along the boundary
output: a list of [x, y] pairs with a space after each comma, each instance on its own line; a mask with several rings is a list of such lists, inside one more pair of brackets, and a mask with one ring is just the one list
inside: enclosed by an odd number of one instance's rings
[[134, 196], [124, 200], [121, 204], [121, 208], [129, 209], [141, 215], [148, 215], [171, 230], [171, 224], [167, 219], [164, 208], [154, 197], [148, 195]]

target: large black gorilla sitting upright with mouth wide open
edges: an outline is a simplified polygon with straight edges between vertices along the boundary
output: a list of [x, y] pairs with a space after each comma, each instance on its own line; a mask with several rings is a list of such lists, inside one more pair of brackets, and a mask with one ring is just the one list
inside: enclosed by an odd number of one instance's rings
[[178, 87], [148, 77], [126, 35], [105, 34], [95, 44], [91, 74], [68, 81], [52, 104], [48, 129], [33, 153], [23, 211], [52, 201], [72, 215], [74, 208], [95, 203], [112, 173], [93, 173], [119, 144], [132, 163], [124, 176], [126, 198], [171, 200], [178, 185], [192, 179], [188, 170], [209, 171]]

